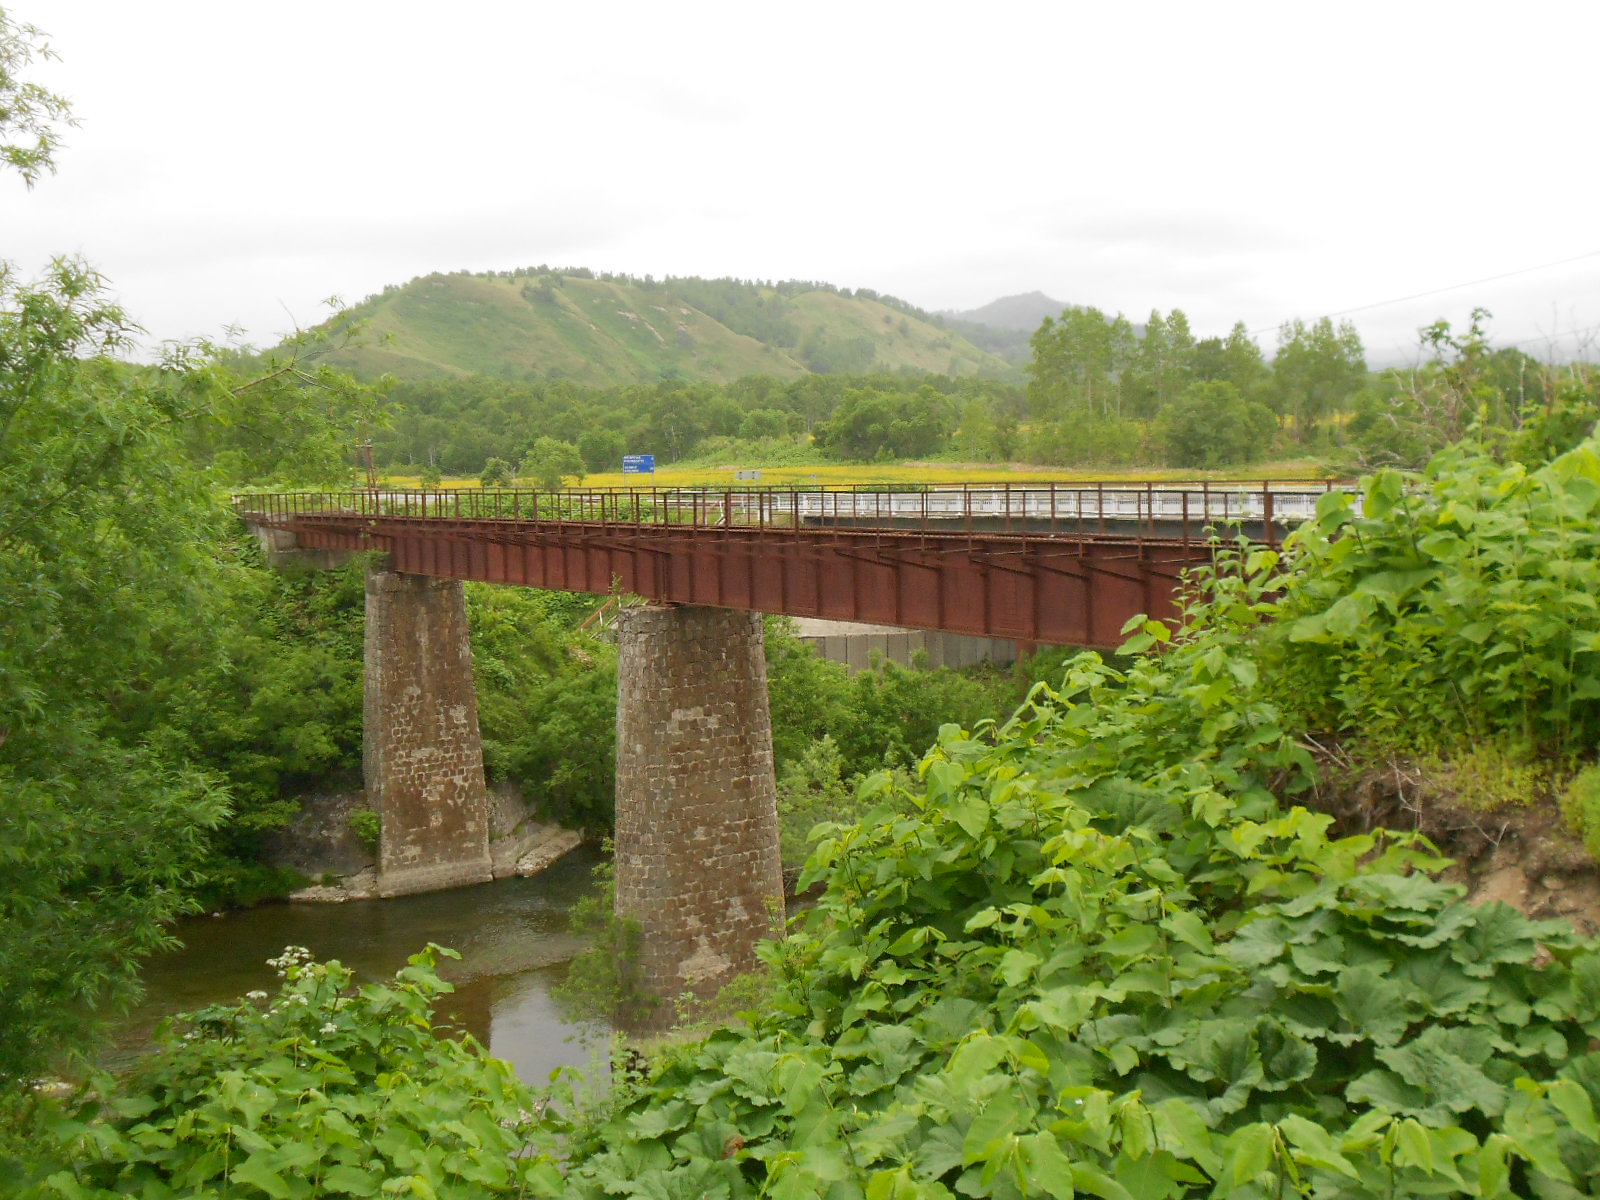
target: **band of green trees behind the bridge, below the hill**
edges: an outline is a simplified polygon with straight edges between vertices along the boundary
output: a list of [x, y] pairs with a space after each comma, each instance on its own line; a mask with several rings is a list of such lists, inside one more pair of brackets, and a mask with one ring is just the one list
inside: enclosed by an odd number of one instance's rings
[[[1032, 338], [1026, 382], [917, 374], [667, 379], [614, 389], [493, 376], [390, 382], [373, 453], [392, 474], [437, 482], [614, 472], [624, 454], [661, 466], [798, 466], [902, 459], [1038, 467], [1237, 469], [1296, 462], [1357, 474], [1419, 467], [1475, 421], [1520, 426], [1584, 363], [1550, 366], [1496, 349], [1490, 315], [1440, 322], [1419, 365], [1368, 371], [1360, 336], [1328, 318], [1290, 322], [1269, 360], [1243, 325], [1195, 338], [1181, 310], [1144, 325], [1067, 309]], [[1590, 386], [1584, 382], [1582, 386]], [[539, 453], [534, 445], [546, 438]], [[531, 456], [531, 458], [530, 458]], [[498, 464], [498, 466], [496, 466]], [[530, 464], [526, 470], [518, 470]]]

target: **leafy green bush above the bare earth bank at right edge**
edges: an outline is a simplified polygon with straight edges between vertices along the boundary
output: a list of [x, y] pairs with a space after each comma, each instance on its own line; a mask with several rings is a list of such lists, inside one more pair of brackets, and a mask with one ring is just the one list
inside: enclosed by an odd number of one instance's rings
[[[1274, 563], [1275, 565], [1275, 563]], [[1534, 470], [1453, 446], [1328, 493], [1288, 542], [1274, 693], [1312, 728], [1555, 757], [1600, 741], [1600, 443]]]

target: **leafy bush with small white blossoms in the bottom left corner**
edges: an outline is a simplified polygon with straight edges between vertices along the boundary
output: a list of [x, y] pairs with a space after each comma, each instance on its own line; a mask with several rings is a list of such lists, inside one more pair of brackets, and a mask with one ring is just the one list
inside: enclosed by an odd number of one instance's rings
[[429, 946], [392, 984], [357, 987], [290, 947], [275, 997], [181, 1019], [126, 1080], [48, 1122], [56, 1144], [13, 1194], [552, 1195], [554, 1163], [523, 1157], [533, 1094], [470, 1037], [435, 1032], [453, 990], [440, 955], [458, 957]]

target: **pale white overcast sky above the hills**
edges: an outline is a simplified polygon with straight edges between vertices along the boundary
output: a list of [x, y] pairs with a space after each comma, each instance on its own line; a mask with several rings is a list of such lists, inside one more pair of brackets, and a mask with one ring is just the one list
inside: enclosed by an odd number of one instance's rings
[[82, 120], [0, 176], [0, 258], [85, 256], [154, 338], [539, 262], [1181, 307], [1269, 354], [1325, 314], [1374, 358], [1474, 306], [1539, 357], [1600, 326], [1594, 0], [0, 6]]

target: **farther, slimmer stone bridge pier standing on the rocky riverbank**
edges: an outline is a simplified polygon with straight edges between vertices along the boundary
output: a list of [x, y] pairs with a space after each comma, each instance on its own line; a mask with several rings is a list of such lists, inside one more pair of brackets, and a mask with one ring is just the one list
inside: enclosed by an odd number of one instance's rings
[[363, 718], [366, 797], [382, 818], [378, 894], [491, 878], [461, 581], [368, 571]]

